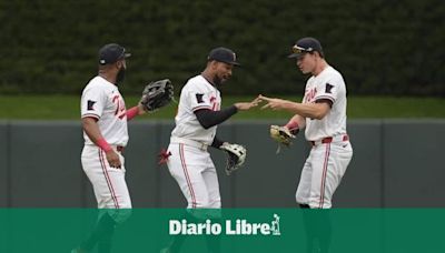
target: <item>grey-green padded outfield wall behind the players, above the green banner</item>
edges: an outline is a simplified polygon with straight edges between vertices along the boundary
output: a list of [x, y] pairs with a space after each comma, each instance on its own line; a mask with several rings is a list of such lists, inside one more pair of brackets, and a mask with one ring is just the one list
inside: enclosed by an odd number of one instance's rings
[[[220, 139], [248, 149], [245, 168], [224, 173], [225, 154], [211, 150], [225, 208], [293, 208], [300, 169], [310, 146], [299, 135], [275, 154], [268, 125], [284, 121], [228, 122]], [[135, 208], [181, 208], [186, 202], [157, 154], [168, 145], [172, 122], [129, 124], [127, 184]], [[336, 208], [444, 208], [445, 120], [355, 120], [354, 148]], [[95, 208], [80, 165], [82, 132], [76, 121], [0, 122], [0, 208]]]

